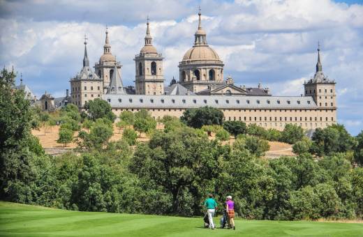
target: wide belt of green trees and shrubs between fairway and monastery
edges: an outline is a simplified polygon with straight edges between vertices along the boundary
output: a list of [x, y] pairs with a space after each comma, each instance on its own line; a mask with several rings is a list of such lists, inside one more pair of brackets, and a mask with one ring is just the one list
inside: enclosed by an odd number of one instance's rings
[[[89, 102], [82, 114], [69, 105], [46, 118], [13, 89], [14, 77], [6, 70], [0, 77], [2, 200], [193, 216], [202, 214], [202, 201], [212, 192], [220, 204], [232, 195], [237, 215], [249, 219], [363, 217], [362, 132], [352, 137], [342, 125], [332, 125], [316, 130], [310, 140], [296, 125], [279, 132], [223, 122], [223, 113], [207, 107], [188, 110], [181, 120], [165, 116], [163, 130], [155, 130], [156, 121], [145, 110], [123, 112], [117, 121], [123, 139], [110, 142], [116, 117], [108, 103]], [[77, 153], [46, 155], [31, 135], [43, 121], [79, 131]], [[137, 142], [135, 130], [147, 133], [149, 142]], [[230, 135], [232, 146], [221, 142]], [[59, 134], [59, 142], [66, 138]], [[294, 144], [299, 155], [262, 159], [266, 140]]]

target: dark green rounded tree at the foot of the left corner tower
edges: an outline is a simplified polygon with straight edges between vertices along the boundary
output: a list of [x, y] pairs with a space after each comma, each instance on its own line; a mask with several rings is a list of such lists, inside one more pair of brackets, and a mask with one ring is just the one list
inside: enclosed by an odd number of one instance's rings
[[107, 101], [99, 98], [85, 102], [84, 109], [87, 110], [89, 118], [93, 121], [105, 118], [113, 123], [114, 119], [116, 119], [116, 115], [112, 112], [111, 105]]

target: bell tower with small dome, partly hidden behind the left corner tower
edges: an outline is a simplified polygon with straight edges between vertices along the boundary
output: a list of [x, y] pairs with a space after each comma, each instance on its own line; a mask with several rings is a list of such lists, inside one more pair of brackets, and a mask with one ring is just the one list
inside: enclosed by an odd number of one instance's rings
[[[108, 38], [108, 27], [106, 27], [106, 38], [105, 45], [103, 45], [103, 54], [100, 57], [98, 63], [95, 64], [94, 69], [100, 79], [103, 81], [103, 91], [102, 93], [107, 93], [108, 86], [115, 72], [115, 68], [118, 70], [119, 75], [121, 75], [121, 63], [116, 61], [116, 56], [111, 52], [110, 40]], [[116, 65], [116, 67], [115, 67]]]

